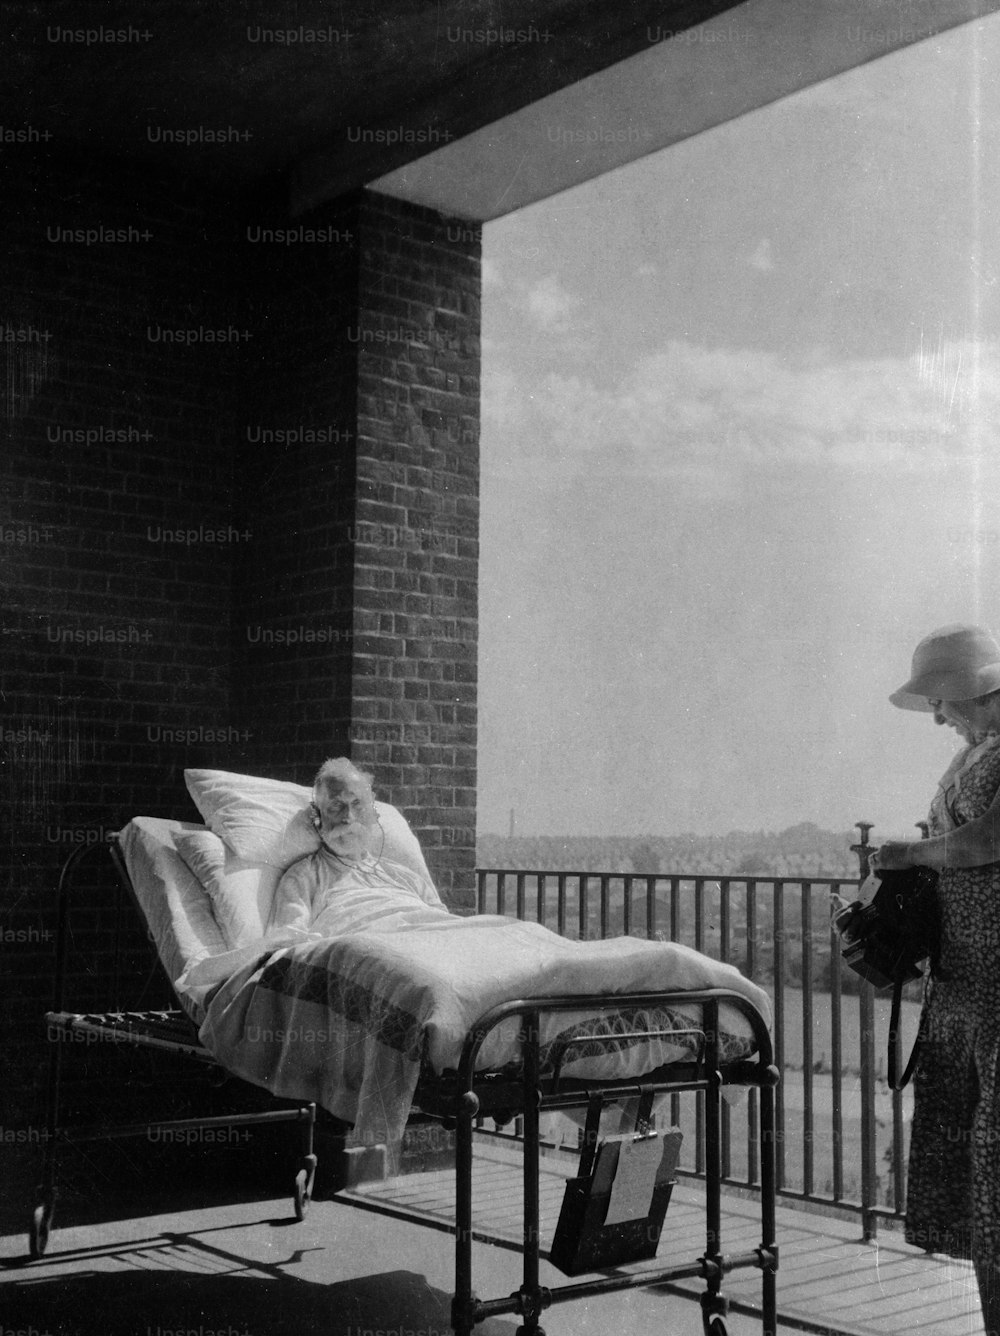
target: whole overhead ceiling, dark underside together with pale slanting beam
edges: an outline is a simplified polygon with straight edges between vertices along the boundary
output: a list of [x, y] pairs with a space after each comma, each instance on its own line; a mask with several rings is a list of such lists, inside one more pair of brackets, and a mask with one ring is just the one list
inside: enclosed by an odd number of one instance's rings
[[[477, 222], [1000, 0], [4, 0], [0, 151]], [[433, 151], [429, 152], [429, 148]]]

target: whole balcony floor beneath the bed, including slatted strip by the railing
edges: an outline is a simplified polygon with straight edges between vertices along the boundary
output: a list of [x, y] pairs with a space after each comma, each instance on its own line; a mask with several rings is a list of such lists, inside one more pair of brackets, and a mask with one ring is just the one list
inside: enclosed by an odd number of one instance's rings
[[[571, 1164], [563, 1156], [545, 1160], [543, 1221], [550, 1226]], [[519, 1284], [511, 1246], [521, 1209], [517, 1149], [483, 1138], [475, 1173], [477, 1228], [499, 1238], [498, 1246], [475, 1245], [475, 1289], [483, 1297], [507, 1295]], [[315, 1201], [302, 1224], [291, 1217], [287, 1198], [160, 1209], [60, 1229], [48, 1255], [31, 1264], [24, 1234], [8, 1236], [0, 1238], [4, 1329], [51, 1336], [364, 1336], [379, 1329], [445, 1336], [453, 1261], [443, 1230], [453, 1192], [451, 1172], [437, 1169]], [[670, 1202], [660, 1259], [697, 1257], [704, 1229], [700, 1185], [686, 1181]], [[983, 1331], [968, 1265], [927, 1259], [888, 1230], [877, 1248], [862, 1244], [854, 1221], [788, 1208], [778, 1212], [778, 1238], [781, 1332]], [[724, 1250], [758, 1241], [756, 1202], [726, 1194]], [[542, 1284], [561, 1283], [565, 1277], [543, 1264]], [[577, 1300], [546, 1312], [545, 1328], [549, 1336], [615, 1329], [694, 1336], [702, 1288], [690, 1281]], [[730, 1273], [725, 1292], [734, 1303], [732, 1336], [760, 1332], [752, 1316], [760, 1273]], [[515, 1325], [513, 1317], [491, 1319], [477, 1331], [513, 1336]]]

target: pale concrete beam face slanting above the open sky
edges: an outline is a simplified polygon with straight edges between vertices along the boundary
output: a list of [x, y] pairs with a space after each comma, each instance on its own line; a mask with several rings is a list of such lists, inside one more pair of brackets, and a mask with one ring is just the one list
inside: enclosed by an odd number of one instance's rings
[[[489, 222], [856, 65], [1000, 0], [748, 0], [378, 178], [374, 190]], [[311, 175], [307, 170], [311, 170]], [[295, 174], [299, 204], [320, 163]]]

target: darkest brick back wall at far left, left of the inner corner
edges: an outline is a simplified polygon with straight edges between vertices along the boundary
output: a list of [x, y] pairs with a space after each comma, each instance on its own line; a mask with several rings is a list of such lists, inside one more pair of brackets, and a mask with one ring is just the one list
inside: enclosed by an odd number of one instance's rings
[[230, 537], [236, 349], [163, 334], [230, 325], [220, 206], [120, 179], [32, 159], [3, 187], [0, 947], [28, 1102], [61, 859], [139, 811], [183, 814], [182, 766], [218, 763], [208, 729], [231, 727], [235, 544], [203, 538]]

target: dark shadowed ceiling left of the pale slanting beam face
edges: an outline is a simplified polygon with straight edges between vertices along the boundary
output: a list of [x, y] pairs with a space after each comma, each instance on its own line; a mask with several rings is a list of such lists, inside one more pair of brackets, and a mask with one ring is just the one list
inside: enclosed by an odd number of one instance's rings
[[224, 190], [322, 172], [332, 198], [734, 3], [3, 0], [0, 126]]

